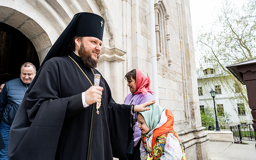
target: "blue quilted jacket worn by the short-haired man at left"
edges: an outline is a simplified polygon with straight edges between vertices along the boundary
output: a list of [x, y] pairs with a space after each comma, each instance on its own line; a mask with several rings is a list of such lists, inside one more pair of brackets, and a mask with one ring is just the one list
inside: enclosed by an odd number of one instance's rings
[[28, 86], [20, 78], [5, 83], [0, 94], [0, 120], [12, 124]]

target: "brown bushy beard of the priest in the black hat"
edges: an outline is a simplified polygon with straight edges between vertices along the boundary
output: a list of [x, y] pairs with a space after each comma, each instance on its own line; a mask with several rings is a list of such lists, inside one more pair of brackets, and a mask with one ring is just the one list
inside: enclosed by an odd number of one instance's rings
[[84, 44], [81, 43], [81, 46], [78, 50], [78, 55], [83, 60], [84, 65], [89, 68], [96, 68], [98, 63], [98, 57], [97, 59], [92, 59], [92, 52], [89, 51], [89, 49], [84, 47]]

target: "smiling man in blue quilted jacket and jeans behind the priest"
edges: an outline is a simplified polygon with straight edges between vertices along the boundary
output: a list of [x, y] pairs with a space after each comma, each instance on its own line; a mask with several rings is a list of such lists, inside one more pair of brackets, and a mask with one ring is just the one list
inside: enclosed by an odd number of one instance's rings
[[0, 133], [4, 140], [4, 144], [0, 144], [1, 160], [8, 160], [8, 141], [12, 121], [20, 107], [29, 84], [35, 76], [36, 67], [32, 63], [24, 63], [20, 68], [20, 78], [6, 82], [0, 94]]

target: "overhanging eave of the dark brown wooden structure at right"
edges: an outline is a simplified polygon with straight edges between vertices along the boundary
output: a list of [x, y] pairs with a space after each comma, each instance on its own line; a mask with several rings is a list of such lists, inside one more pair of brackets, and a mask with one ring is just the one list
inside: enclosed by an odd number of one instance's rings
[[230, 66], [227, 66], [226, 68], [228, 68], [228, 70], [242, 83], [245, 85], [245, 81], [243, 79], [243, 73], [238, 72], [237, 67], [240, 66], [245, 66], [245, 65], [249, 65], [249, 64], [256, 64], [256, 58], [252, 59], [252, 60], [247, 60], [244, 62], [240, 62], [240, 63], [236, 63]]

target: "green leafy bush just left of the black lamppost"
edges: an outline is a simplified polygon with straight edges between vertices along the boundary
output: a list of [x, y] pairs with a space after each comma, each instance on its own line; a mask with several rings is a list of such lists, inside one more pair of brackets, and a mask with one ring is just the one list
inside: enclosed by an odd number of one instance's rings
[[204, 108], [204, 111], [201, 112], [201, 121], [202, 126], [205, 127], [205, 130], [208, 130], [208, 126], [214, 126], [215, 118], [214, 118], [214, 112], [210, 108]]

